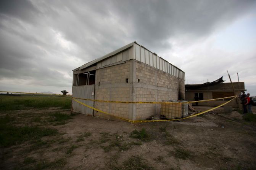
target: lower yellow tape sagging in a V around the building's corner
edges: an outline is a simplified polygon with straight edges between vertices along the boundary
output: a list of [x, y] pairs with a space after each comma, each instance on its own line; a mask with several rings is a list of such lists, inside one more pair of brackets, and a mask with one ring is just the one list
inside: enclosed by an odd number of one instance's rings
[[[237, 96], [233, 96], [233, 97], [234, 97], [233, 99], [235, 99]], [[230, 98], [230, 97], [228, 97], [228, 98]], [[188, 116], [188, 117], [182, 118], [182, 119], [166, 119], [166, 120], [150, 120], [150, 121], [132, 121], [132, 120], [130, 120], [130, 119], [125, 119], [125, 118], [122, 118], [122, 117], [119, 117], [119, 116], [114, 116], [114, 115], [112, 115], [112, 114], [110, 114], [110, 113], [107, 113], [107, 112], [105, 112], [105, 111], [99, 110], [99, 109], [94, 108], [94, 107], [89, 106], [89, 105], [86, 105], [85, 103], [82, 103], [82, 102], [76, 100], [74, 97], [72, 97], [72, 99], [73, 99], [75, 102], [80, 103], [81, 105], [84, 105], [84, 106], [86, 106], [86, 107], [89, 107], [89, 108], [91, 108], [91, 109], [93, 109], [93, 110], [96, 110], [96, 111], [98, 111], [98, 112], [107, 114], [107, 115], [109, 115], [109, 116], [113, 116], [113, 117], [118, 118], [118, 119], [122, 119], [122, 120], [127, 121], [127, 122], [131, 122], [131, 123], [180, 121], [180, 120], [183, 120], [183, 119], [187, 119], [187, 118], [192, 118], [192, 117], [194, 117], [194, 116], [198, 116], [198, 115], [200, 115], [200, 114], [204, 114], [204, 113], [206, 113], [206, 112], [208, 112], [208, 111], [211, 111], [211, 110], [214, 110], [214, 109], [216, 109], [216, 108], [219, 108], [219, 107], [221, 107], [221, 106], [223, 106], [223, 105], [225, 105], [225, 104], [227, 104], [227, 103], [229, 103], [229, 102], [231, 102], [231, 101], [233, 100], [233, 99], [231, 99], [231, 100], [229, 100], [229, 101], [227, 101], [227, 102], [225, 102], [225, 103], [223, 103], [223, 104], [221, 104], [221, 105], [219, 105], [219, 106], [216, 106], [216, 107], [211, 108], [211, 109], [209, 109], [209, 110], [202, 111], [201, 113], [197, 113], [197, 114], [194, 114], [194, 115], [192, 115], [192, 116]], [[227, 99], [227, 98], [226, 98], [226, 99]], [[217, 100], [217, 99], [215, 99], [215, 100]]]

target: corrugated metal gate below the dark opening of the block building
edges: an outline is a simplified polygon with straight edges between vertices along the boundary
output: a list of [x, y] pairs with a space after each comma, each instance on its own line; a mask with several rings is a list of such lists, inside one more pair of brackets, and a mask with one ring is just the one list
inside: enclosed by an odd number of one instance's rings
[[[94, 99], [94, 84], [87, 85], [87, 86], [73, 86], [72, 94], [73, 94], [73, 97], [77, 97], [77, 98]], [[94, 103], [93, 101], [81, 100], [81, 99], [77, 99], [77, 100], [85, 103], [86, 105], [93, 107], [93, 103]], [[72, 101], [72, 111], [77, 113], [82, 113], [82, 114], [90, 114], [90, 115], [93, 114], [92, 109], [86, 106], [83, 106], [80, 103], [75, 102], [74, 100]]]

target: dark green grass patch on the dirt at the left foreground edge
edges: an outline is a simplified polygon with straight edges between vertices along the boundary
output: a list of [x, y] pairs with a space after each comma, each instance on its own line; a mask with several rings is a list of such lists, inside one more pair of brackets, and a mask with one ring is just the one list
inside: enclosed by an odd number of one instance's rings
[[29, 140], [39, 140], [44, 136], [53, 136], [58, 130], [43, 127], [22, 126], [11, 124], [13, 118], [8, 114], [0, 117], [0, 146], [9, 147]]

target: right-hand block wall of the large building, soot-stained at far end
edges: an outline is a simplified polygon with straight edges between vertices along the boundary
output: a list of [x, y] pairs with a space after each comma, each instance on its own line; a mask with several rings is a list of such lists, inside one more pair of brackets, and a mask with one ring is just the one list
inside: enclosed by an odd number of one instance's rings
[[[162, 100], [185, 99], [184, 80], [139, 61], [136, 62], [134, 82], [135, 100], [161, 102]], [[138, 82], [138, 79], [140, 81]], [[136, 104], [136, 119], [147, 119], [159, 114], [161, 104]]]

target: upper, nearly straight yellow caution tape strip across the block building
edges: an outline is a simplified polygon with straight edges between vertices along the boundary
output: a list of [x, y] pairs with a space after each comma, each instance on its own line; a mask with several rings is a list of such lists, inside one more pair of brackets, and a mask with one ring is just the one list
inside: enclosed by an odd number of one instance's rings
[[84, 98], [78, 98], [78, 97], [72, 97], [72, 99], [81, 99], [81, 100], [89, 100], [89, 101], [94, 101], [94, 102], [105, 102], [105, 103], [140, 103], [140, 104], [177, 104], [177, 103], [197, 103], [197, 102], [207, 102], [207, 101], [213, 101], [213, 100], [221, 100], [221, 99], [229, 99], [237, 97], [235, 96], [230, 96], [230, 97], [222, 97], [218, 99], [208, 99], [208, 100], [198, 100], [198, 101], [191, 101], [191, 102], [124, 102], [124, 101], [109, 101], [109, 100], [95, 100], [95, 99], [84, 99]]

